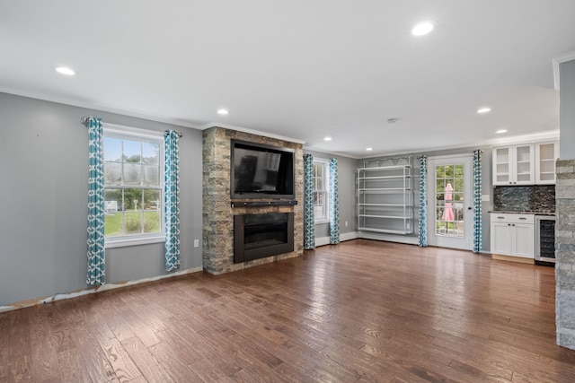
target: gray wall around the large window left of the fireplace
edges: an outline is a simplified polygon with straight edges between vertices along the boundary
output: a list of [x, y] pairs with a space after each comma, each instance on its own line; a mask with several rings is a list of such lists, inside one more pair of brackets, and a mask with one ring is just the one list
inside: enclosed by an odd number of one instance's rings
[[[201, 266], [201, 131], [0, 93], [0, 306], [87, 287], [83, 116], [183, 133], [181, 269]], [[106, 250], [107, 283], [163, 274], [164, 243]]]

